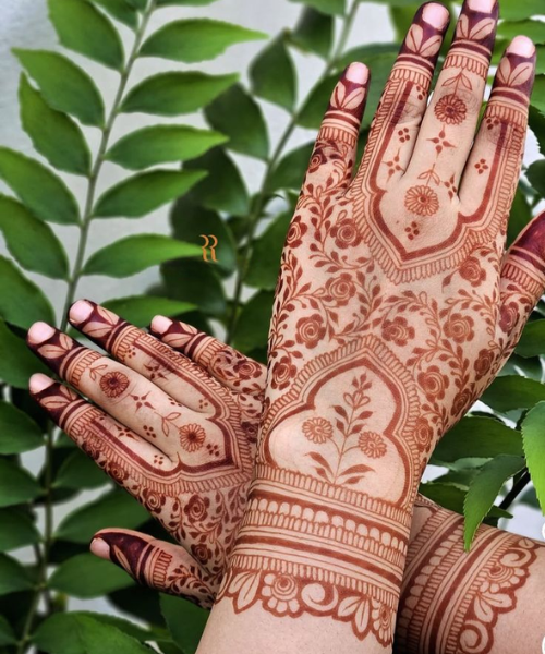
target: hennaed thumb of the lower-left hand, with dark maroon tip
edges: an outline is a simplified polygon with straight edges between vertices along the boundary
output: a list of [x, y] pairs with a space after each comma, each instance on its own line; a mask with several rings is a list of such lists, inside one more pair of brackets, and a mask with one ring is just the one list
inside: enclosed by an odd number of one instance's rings
[[205, 572], [178, 545], [136, 531], [105, 529], [94, 535], [90, 552], [156, 591], [182, 596], [203, 608], [214, 604], [215, 589], [205, 581]]

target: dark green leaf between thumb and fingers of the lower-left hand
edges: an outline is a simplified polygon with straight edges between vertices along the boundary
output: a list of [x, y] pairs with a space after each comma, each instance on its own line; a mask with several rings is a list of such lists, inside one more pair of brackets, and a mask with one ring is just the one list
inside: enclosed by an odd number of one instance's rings
[[128, 493], [112, 491], [66, 516], [56, 535], [70, 543], [87, 544], [100, 529], [112, 524], [120, 529], [135, 529], [148, 518], [146, 509]]

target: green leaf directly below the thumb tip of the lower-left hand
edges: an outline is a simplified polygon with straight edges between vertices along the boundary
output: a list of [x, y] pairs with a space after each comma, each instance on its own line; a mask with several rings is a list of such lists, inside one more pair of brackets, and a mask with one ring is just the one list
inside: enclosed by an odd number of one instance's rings
[[134, 580], [111, 561], [85, 553], [61, 564], [48, 584], [61, 593], [89, 600], [134, 585]]

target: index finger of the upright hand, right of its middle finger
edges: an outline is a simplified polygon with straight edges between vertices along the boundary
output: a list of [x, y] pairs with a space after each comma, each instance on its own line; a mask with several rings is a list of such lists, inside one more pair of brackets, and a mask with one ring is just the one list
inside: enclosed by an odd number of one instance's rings
[[504, 55], [460, 185], [462, 218], [479, 243], [504, 253], [507, 218], [520, 174], [535, 47], [516, 37]]

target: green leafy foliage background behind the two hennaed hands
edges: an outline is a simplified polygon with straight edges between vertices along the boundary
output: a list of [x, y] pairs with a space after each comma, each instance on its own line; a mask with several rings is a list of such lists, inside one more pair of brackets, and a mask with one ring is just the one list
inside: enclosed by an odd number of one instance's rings
[[[396, 43], [347, 51], [354, 19], [365, 12], [366, 2], [290, 0], [301, 4], [298, 24], [266, 39], [250, 66], [250, 83], [244, 84], [240, 81], [244, 71], [209, 75], [198, 69], [231, 45], [265, 37], [239, 25], [184, 17], [185, 5], [214, 1], [47, 0], [62, 46], [119, 73], [110, 107], [105, 107], [100, 89], [69, 51], [13, 50], [22, 70], [22, 125], [40, 157], [0, 147], [0, 178], [13, 192], [0, 195], [0, 230], [11, 255], [0, 257], [0, 653], [37, 649], [51, 654], [105, 650], [136, 654], [149, 652], [146, 643], [153, 642], [165, 654], [191, 654], [206, 620], [206, 613], [192, 604], [140, 588], [122, 570], [88, 553], [92, 535], [104, 526], [167, 536], [29, 399], [28, 377], [44, 366], [27, 350], [25, 330], [38, 319], [64, 329], [66, 312], [56, 320], [40, 286], [25, 270], [63, 280], [69, 307], [84, 276], [122, 278], [160, 265], [161, 283], [156, 288], [104, 304], [138, 326], [147, 325], [156, 313], [180, 316], [210, 334], [219, 324], [227, 332], [223, 340], [265, 362], [280, 252], [312, 148], [308, 142], [290, 149], [290, 137], [301, 128], [318, 128], [339, 72], [360, 60], [373, 73], [363, 145], [399, 43], [417, 8], [407, 0], [376, 0], [389, 7]], [[542, 0], [502, 0], [494, 62], [516, 34], [528, 34], [537, 44], [530, 126], [545, 155], [545, 23], [533, 19], [541, 4]], [[152, 34], [149, 19], [162, 7], [178, 7], [180, 16]], [[126, 29], [132, 48], [124, 52], [120, 32]], [[322, 72], [305, 97], [299, 92], [294, 51], [320, 62]], [[165, 70], [131, 85], [133, 66], [143, 57], [164, 59]], [[173, 71], [169, 61], [192, 66]], [[265, 102], [286, 112], [276, 143], [270, 142], [264, 120]], [[203, 112], [209, 129], [159, 122], [112, 143], [114, 122], [131, 112], [157, 117]], [[99, 131], [96, 152], [90, 152], [82, 124]], [[257, 192], [250, 193], [233, 154], [263, 162]], [[106, 161], [123, 167], [126, 178], [97, 196]], [[183, 164], [165, 168], [172, 162]], [[56, 171], [85, 180], [83, 206]], [[509, 243], [543, 197], [545, 158], [524, 170]], [[170, 237], [136, 233], [88, 256], [89, 229], [101, 228], [96, 221], [140, 218], [173, 201]], [[78, 230], [78, 247], [70, 257], [55, 223]], [[203, 233], [218, 238], [217, 264], [202, 259]], [[223, 338], [223, 332], [217, 336]], [[483, 397], [492, 413], [473, 412], [444, 438], [433, 462], [446, 473], [422, 485], [432, 499], [465, 513], [467, 546], [483, 520], [496, 524], [500, 517], [509, 517], [516, 500], [538, 506], [540, 499], [545, 507], [544, 336], [542, 301], [516, 353]], [[21, 455], [31, 450], [43, 458], [38, 475], [22, 462]], [[531, 479], [536, 492], [526, 488]], [[87, 489], [101, 494], [90, 502], [80, 499], [58, 524], [56, 508]], [[21, 562], [22, 548], [33, 550], [32, 564]], [[137, 625], [68, 610], [71, 597], [100, 596], [108, 596]]]

